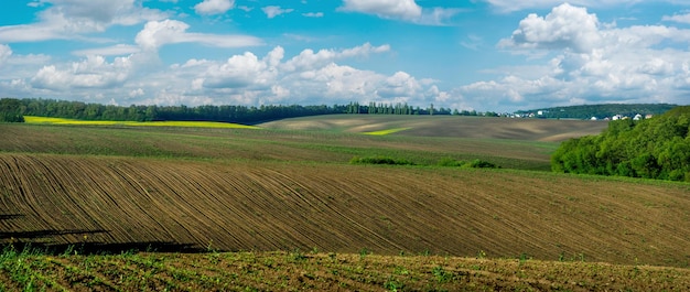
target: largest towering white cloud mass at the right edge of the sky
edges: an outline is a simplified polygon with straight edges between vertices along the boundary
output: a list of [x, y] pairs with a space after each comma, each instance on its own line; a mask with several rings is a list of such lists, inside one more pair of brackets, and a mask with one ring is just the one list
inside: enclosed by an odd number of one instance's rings
[[690, 30], [601, 25], [594, 13], [565, 3], [543, 18], [529, 14], [498, 44], [516, 52], [546, 52], [535, 60], [542, 62], [540, 68], [514, 69], [503, 78], [473, 83], [459, 91], [487, 108], [682, 104], [690, 88], [690, 52], [683, 48], [688, 44]]

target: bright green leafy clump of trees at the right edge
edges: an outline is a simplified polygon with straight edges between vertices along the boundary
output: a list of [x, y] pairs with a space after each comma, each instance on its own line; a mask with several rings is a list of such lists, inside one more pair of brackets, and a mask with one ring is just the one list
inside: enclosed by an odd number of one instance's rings
[[557, 172], [690, 181], [690, 106], [640, 121], [611, 121], [600, 136], [561, 143]]

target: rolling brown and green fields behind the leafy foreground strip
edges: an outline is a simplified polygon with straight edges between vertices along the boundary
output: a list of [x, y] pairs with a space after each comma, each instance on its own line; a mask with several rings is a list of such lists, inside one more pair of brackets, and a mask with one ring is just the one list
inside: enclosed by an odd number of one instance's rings
[[[519, 170], [548, 167], [549, 142], [406, 131], [0, 130], [3, 242], [690, 266], [688, 184]], [[504, 169], [347, 164], [365, 153], [478, 155]]]

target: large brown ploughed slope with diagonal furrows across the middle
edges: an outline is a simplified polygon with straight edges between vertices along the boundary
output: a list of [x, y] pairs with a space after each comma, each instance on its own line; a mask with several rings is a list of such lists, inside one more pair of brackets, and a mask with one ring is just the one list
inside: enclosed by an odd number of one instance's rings
[[690, 264], [687, 185], [550, 173], [0, 153], [0, 240]]

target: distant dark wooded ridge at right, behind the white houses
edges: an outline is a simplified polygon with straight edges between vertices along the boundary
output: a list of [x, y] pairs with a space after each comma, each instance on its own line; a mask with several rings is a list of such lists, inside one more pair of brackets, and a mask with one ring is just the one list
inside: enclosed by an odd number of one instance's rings
[[569, 107], [553, 107], [532, 110], [518, 110], [517, 115], [537, 115], [541, 111], [541, 116], [537, 118], [545, 119], [591, 119], [596, 117], [597, 119], [611, 118], [615, 115], [634, 117], [635, 115], [661, 115], [677, 105], [669, 104], [604, 104], [604, 105], [584, 105], [584, 106], [569, 106]]

